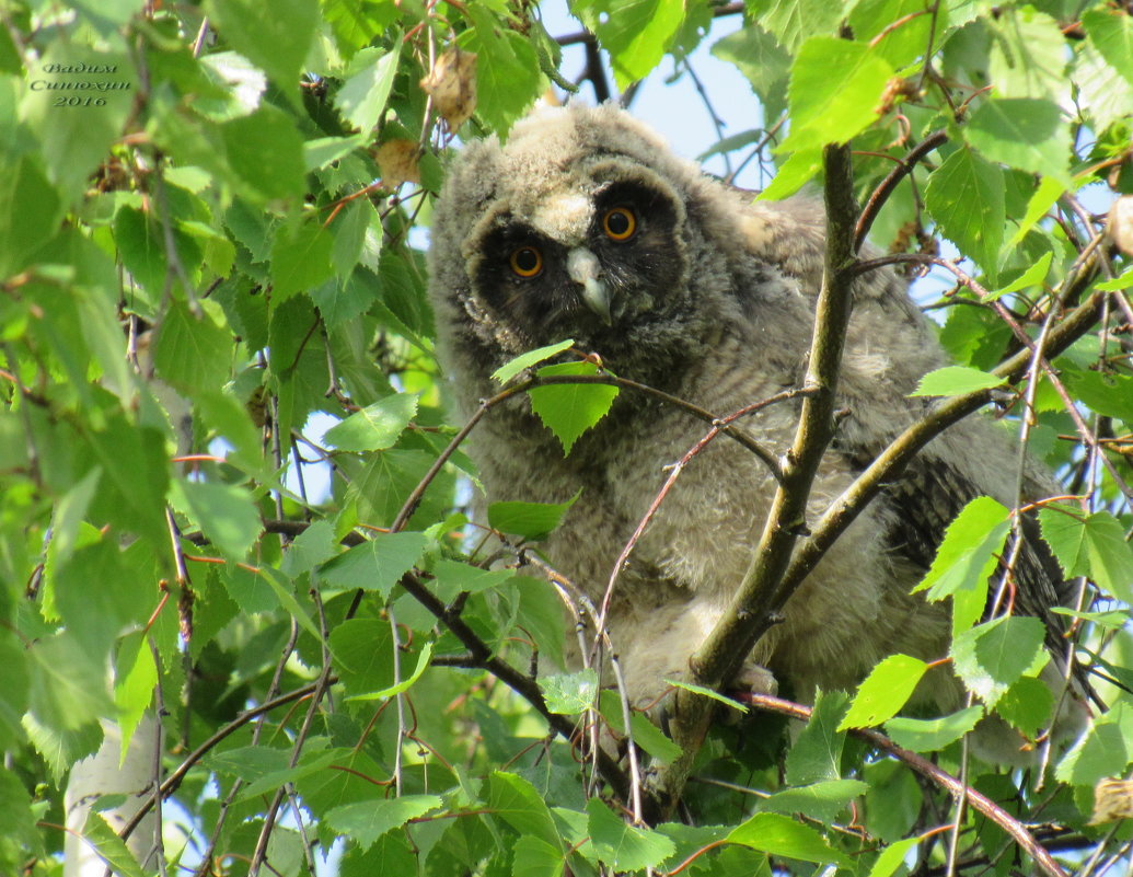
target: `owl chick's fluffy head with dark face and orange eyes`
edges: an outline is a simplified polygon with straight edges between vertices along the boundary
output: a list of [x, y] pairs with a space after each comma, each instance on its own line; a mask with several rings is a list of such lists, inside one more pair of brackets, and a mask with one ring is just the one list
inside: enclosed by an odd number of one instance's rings
[[613, 105], [542, 110], [506, 143], [469, 145], [433, 220], [443, 340], [500, 360], [564, 338], [615, 369], [659, 357], [702, 321], [689, 276], [706, 185]]

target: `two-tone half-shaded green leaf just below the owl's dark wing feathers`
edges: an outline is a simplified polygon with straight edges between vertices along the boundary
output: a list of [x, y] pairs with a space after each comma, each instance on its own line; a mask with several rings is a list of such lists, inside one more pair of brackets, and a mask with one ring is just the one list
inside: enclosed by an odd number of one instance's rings
[[1010, 615], [965, 630], [952, 642], [952, 658], [968, 690], [990, 709], [1022, 676], [1047, 663], [1046, 627], [1036, 618]]

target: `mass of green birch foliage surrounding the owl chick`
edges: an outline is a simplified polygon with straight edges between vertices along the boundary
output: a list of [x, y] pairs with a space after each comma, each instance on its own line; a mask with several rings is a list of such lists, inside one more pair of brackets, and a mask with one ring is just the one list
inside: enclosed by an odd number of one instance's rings
[[[863, 270], [931, 272], [917, 289], [956, 360], [918, 393], [990, 403], [1058, 475], [1037, 519], [1080, 595], [1064, 654], [1108, 709], [1087, 717], [1042, 681], [1045, 625], [1012, 601], [1036, 510], [989, 497], [920, 585], [952, 607], [948, 654], [886, 657], [855, 692], [786, 710], [790, 730], [752, 709], [682, 750], [570, 665], [574, 622], [600, 610], [537, 543], [573, 499], [480, 514], [462, 445], [528, 405], [569, 454], [648, 389], [564, 339], [453, 422], [423, 254], [458, 129], [506, 136], [552, 83], [573, 87], [538, 3], [11, 0], [0, 872], [69, 874], [82, 844], [129, 877], [1006, 877], [1056, 874], [1039, 853], [1080, 874], [1128, 857], [1133, 806], [1091, 817], [1094, 786], [1133, 764], [1133, 262], [1105, 228], [1133, 197], [1133, 17], [1064, 0], [738, 7], [571, 11], [627, 100], [666, 59], [692, 76], [698, 46], [733, 63], [763, 121], [712, 152], [757, 168], [760, 197], [827, 185], [824, 150], [850, 144]], [[608, 88], [600, 66], [586, 76]], [[1021, 351], [1026, 368], [996, 371]], [[706, 442], [742, 438], [733, 412], [661, 397]], [[932, 673], [964, 686], [944, 715], [915, 697]], [[1080, 733], [1050, 748], [1067, 708]], [[973, 751], [981, 722], [1014, 751]], [[122, 794], [95, 790], [77, 824], [63, 802], [111, 732], [123, 770], [139, 736], [162, 753], [125, 829], [103, 816]], [[688, 819], [649, 809], [681, 759]], [[942, 774], [1003, 816], [956, 804]], [[160, 841], [138, 827], [154, 815]]]

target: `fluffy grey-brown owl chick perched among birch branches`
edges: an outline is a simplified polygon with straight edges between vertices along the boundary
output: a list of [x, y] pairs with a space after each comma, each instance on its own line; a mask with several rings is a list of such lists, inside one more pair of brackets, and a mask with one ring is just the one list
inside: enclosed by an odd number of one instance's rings
[[[470, 144], [450, 170], [429, 255], [438, 349], [466, 415], [495, 391], [500, 365], [571, 338], [613, 373], [724, 416], [801, 385], [823, 249], [812, 201], [752, 204], [612, 105], [538, 111], [506, 144]], [[943, 361], [896, 275], [858, 281], [840, 384], [850, 414], [815, 483], [812, 520], [922, 414], [908, 394]], [[744, 427], [782, 452], [796, 418], [796, 406], [777, 405]], [[545, 551], [598, 601], [664, 467], [706, 428], [623, 390], [563, 457], [517, 400], [485, 418], [470, 453], [491, 501], [563, 502], [581, 489]], [[964, 503], [989, 494], [1013, 504], [1015, 467], [1011, 443], [982, 420], [935, 440], [808, 577], [738, 681], [766, 688], [766, 667], [809, 697], [852, 688], [892, 653], [944, 656], [947, 610], [909, 591]], [[676, 480], [613, 595], [610, 636], [634, 704], [688, 673], [743, 577], [775, 486], [723, 437]], [[1057, 599], [1040, 559], [1028, 554], [1020, 576], [1033, 607]]]

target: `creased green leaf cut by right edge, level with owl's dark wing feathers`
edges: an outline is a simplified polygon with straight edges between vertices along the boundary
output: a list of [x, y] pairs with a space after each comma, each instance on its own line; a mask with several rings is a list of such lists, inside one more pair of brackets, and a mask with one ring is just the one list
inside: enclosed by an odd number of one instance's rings
[[1133, 602], [1133, 547], [1109, 512], [1079, 517], [1065, 506], [1039, 512], [1039, 526], [1067, 578], [1088, 576], [1119, 599]]

